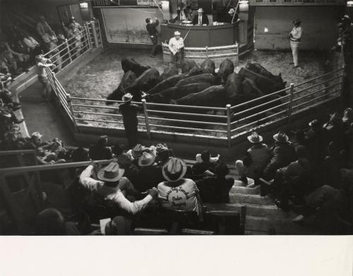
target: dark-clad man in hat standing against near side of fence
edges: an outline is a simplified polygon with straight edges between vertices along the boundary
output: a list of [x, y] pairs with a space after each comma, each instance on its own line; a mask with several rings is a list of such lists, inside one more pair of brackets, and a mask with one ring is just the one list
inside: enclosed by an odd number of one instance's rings
[[131, 95], [131, 93], [126, 93], [122, 98], [124, 103], [119, 106], [119, 110], [123, 115], [125, 134], [130, 148], [133, 148], [137, 143], [137, 112], [140, 109], [138, 105], [131, 104], [132, 98], [133, 95]]

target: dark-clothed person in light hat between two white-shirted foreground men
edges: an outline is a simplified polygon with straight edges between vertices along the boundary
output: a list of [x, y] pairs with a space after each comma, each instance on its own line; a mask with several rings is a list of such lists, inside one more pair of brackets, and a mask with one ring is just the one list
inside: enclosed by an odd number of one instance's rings
[[138, 167], [138, 191], [146, 191], [163, 181], [162, 167], [155, 163], [155, 152], [143, 152], [138, 158]]

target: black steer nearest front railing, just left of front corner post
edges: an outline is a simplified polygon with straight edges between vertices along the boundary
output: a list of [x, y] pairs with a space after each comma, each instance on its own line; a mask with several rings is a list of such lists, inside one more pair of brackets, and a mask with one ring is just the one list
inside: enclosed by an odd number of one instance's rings
[[189, 94], [178, 100], [172, 100], [172, 104], [201, 105], [205, 107], [225, 107], [227, 104], [227, 92], [223, 85], [213, 85], [197, 93]]

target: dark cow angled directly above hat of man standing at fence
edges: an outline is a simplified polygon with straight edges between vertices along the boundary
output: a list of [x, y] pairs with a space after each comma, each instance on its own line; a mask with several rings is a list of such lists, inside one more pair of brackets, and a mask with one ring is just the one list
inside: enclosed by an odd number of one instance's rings
[[160, 72], [156, 68], [150, 68], [142, 73], [141, 76], [131, 83], [126, 92], [133, 95], [133, 100], [139, 102], [141, 100], [141, 92], [148, 91], [160, 82]]

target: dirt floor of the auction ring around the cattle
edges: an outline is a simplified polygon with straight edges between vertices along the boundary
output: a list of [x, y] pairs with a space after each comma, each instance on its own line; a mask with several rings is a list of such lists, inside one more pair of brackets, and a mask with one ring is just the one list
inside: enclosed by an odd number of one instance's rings
[[[162, 62], [162, 54], [156, 58], [149, 56], [147, 49], [114, 49], [108, 50], [97, 56], [87, 66], [83, 67], [78, 71], [75, 78], [72, 78], [71, 82], [66, 86], [67, 92], [73, 97], [85, 97], [93, 99], [105, 99], [107, 95], [112, 92], [118, 85], [121, 78], [124, 75], [124, 71], [121, 68], [121, 59], [124, 56], [132, 56], [136, 61], [143, 65], [149, 65], [157, 68], [160, 73], [164, 70], [165, 66]], [[253, 51], [250, 54], [241, 56], [239, 64], [237, 64], [236, 70], [239, 71], [241, 67], [246, 66], [246, 63], [256, 61], [263, 67], [268, 69], [271, 73], [277, 75], [282, 73], [282, 78], [289, 83], [302, 83], [311, 78], [323, 75], [324, 62], [326, 59], [325, 54], [321, 52], [301, 52], [299, 57], [301, 68], [293, 68], [293, 65], [289, 63], [292, 61], [292, 54], [290, 52], [265, 52], [265, 51]], [[312, 85], [312, 83], [311, 83]], [[310, 90], [306, 91], [310, 92]], [[73, 104], [78, 103], [73, 100]], [[92, 102], [92, 101], [80, 101], [80, 104], [94, 104], [106, 107], [104, 102]], [[116, 110], [112, 109], [116, 108]], [[110, 109], [104, 108], [87, 108], [87, 107], [74, 107], [74, 110], [80, 112], [96, 112], [97, 114], [76, 114], [80, 119], [81, 124], [92, 124], [95, 126], [109, 126], [114, 128], [123, 127], [118, 121], [121, 121], [121, 117], [117, 112], [117, 104], [110, 106]], [[109, 116], [102, 115], [109, 114]], [[151, 114], [149, 114], [151, 116]], [[153, 117], [159, 118], [157, 114], [152, 114]], [[100, 120], [100, 121], [90, 121]], [[197, 119], [195, 119], [197, 121]], [[110, 122], [109, 122], [110, 121]], [[226, 120], [224, 121], [226, 123]], [[145, 120], [143, 114], [140, 114], [139, 128], [145, 128]], [[152, 124], [168, 125], [165, 121], [155, 120]], [[189, 126], [193, 127], [193, 126]], [[200, 127], [200, 126], [199, 126]], [[156, 129], [152, 126], [152, 130]], [[225, 126], [208, 126], [210, 130], [226, 131]], [[245, 131], [243, 129], [242, 131]], [[169, 129], [170, 131], [170, 129]], [[183, 131], [184, 132], [184, 131]], [[189, 131], [193, 133], [193, 131]], [[210, 135], [208, 131], [197, 131], [198, 134]], [[213, 132], [213, 136], [225, 136], [223, 132]]]

